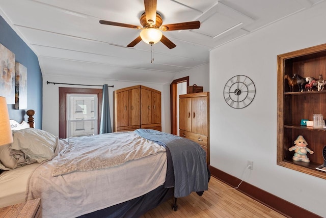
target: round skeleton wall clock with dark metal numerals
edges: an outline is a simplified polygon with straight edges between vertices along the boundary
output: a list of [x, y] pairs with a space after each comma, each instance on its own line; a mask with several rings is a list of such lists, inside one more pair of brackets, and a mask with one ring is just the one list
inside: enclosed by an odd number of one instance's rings
[[248, 76], [237, 75], [227, 81], [223, 94], [228, 105], [241, 109], [254, 100], [256, 87], [253, 80]]

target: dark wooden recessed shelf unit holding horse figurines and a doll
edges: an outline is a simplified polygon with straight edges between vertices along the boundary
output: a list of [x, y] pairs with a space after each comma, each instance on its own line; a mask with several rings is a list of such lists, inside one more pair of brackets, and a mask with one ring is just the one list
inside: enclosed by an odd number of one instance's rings
[[[292, 170], [326, 179], [326, 172], [316, 170], [323, 163], [322, 149], [326, 145], [326, 128], [301, 126], [302, 119], [312, 120], [313, 114], [326, 118], [326, 90], [303, 91], [298, 87], [290, 90], [285, 75], [294, 73], [302, 77], [321, 74], [326, 78], [326, 44], [292, 51], [278, 56], [278, 139], [277, 164]], [[326, 88], [326, 87], [325, 87]], [[314, 151], [307, 154], [310, 162], [294, 161], [293, 151], [298, 135], [303, 135], [307, 147]]]

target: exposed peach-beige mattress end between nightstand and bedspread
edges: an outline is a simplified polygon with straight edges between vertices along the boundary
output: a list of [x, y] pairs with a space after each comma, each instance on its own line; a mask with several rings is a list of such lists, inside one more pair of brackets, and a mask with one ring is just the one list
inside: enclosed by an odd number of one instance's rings
[[39, 165], [40, 163], [33, 163], [0, 175], [0, 207], [25, 201], [29, 177]]

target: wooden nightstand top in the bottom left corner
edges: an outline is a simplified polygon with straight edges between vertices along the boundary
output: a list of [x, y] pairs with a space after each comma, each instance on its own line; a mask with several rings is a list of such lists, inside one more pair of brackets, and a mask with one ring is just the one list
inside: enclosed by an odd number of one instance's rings
[[20, 218], [34, 218], [40, 215], [41, 199], [22, 202], [20, 204], [11, 205], [0, 208], [0, 217], [20, 217]]

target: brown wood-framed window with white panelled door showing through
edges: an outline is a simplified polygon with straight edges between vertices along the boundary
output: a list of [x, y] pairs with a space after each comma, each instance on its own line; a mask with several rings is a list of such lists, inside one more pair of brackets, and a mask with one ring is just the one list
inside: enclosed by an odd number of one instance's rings
[[102, 89], [59, 88], [59, 138], [99, 133]]

